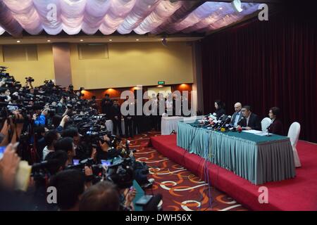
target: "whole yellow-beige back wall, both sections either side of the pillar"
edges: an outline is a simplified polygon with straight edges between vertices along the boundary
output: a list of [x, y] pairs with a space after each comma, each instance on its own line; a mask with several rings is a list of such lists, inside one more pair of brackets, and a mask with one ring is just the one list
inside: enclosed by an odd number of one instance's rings
[[[44, 79], [55, 79], [51, 44], [38, 44], [37, 61], [4, 63], [0, 47], [0, 65], [24, 84], [25, 77], [35, 78], [35, 86]], [[125, 86], [193, 82], [192, 46], [185, 42], [110, 43], [108, 59], [79, 60], [77, 44], [70, 44], [70, 66], [75, 89], [104, 89]], [[68, 84], [67, 84], [68, 86]]]

